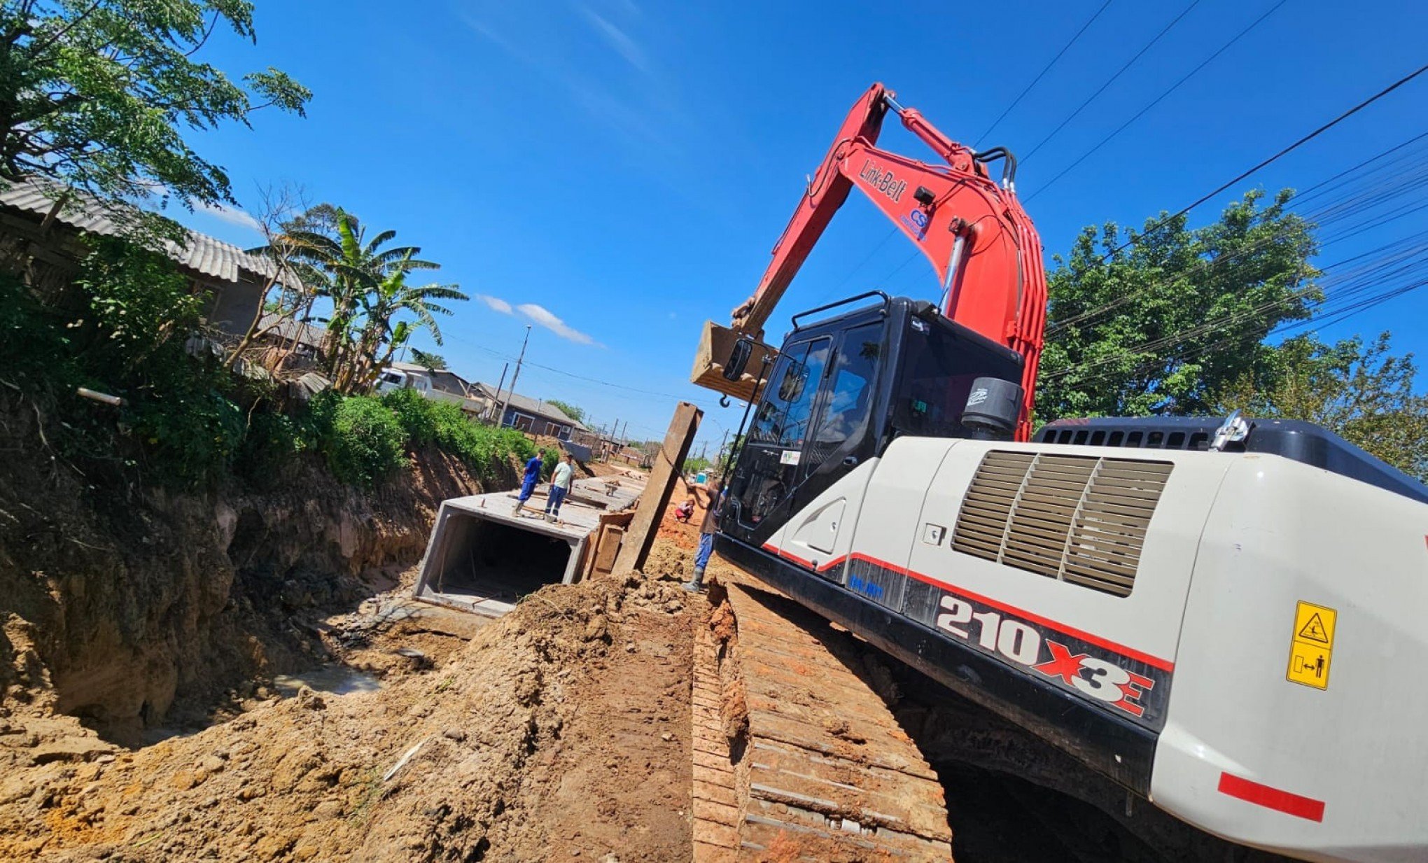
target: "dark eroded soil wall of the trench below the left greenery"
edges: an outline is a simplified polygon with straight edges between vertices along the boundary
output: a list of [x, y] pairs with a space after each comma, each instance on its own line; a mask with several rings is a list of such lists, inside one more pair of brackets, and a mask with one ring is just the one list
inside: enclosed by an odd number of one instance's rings
[[437, 504], [480, 490], [437, 452], [373, 492], [316, 463], [261, 494], [96, 489], [3, 401], [0, 452], [0, 719], [70, 713], [130, 744], [310, 663], [307, 616], [418, 560]]

